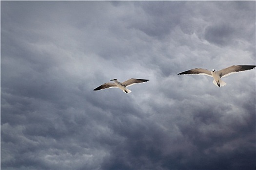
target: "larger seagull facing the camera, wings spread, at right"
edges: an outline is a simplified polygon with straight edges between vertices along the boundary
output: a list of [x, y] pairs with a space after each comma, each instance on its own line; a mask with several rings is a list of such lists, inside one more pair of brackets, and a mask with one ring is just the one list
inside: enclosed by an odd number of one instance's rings
[[240, 71], [245, 71], [248, 69], [254, 69], [256, 66], [230, 66], [228, 68], [224, 68], [221, 70], [216, 71], [215, 69], [213, 69], [212, 71], [207, 70], [207, 69], [203, 69], [203, 68], [195, 68], [195, 69], [191, 69], [188, 71], [184, 71], [181, 73], [178, 73], [178, 75], [181, 74], [202, 74], [202, 75], [207, 75], [210, 77], [214, 78], [213, 84], [221, 87], [226, 85], [225, 82], [223, 82], [220, 78], [222, 77], [226, 77], [230, 74], [236, 73], [236, 72], [240, 72]]

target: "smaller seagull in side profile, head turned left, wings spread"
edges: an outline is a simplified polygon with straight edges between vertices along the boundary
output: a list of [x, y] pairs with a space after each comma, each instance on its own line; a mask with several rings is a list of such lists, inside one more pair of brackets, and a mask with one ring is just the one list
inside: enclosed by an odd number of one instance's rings
[[131, 86], [131, 85], [135, 85], [135, 84], [138, 84], [138, 83], [148, 82], [149, 80], [133, 79], [132, 78], [132, 79], [126, 80], [123, 83], [119, 82], [118, 79], [112, 79], [110, 81], [114, 81], [114, 83], [105, 83], [105, 84], [100, 85], [97, 88], [95, 88], [94, 91], [103, 90], [103, 89], [106, 89], [106, 88], [120, 88], [125, 93], [131, 93], [132, 91], [127, 89], [126, 87]]

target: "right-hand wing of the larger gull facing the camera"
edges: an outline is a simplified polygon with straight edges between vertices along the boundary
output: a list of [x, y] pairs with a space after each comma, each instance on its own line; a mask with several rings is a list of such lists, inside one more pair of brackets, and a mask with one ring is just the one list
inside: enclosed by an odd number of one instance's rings
[[248, 69], [254, 69], [255, 66], [250, 66], [250, 65], [243, 65], [243, 66], [230, 66], [228, 68], [224, 68], [218, 71], [220, 78], [221, 77], [226, 77], [230, 74], [234, 74], [236, 72], [240, 72], [240, 71], [245, 71]]

